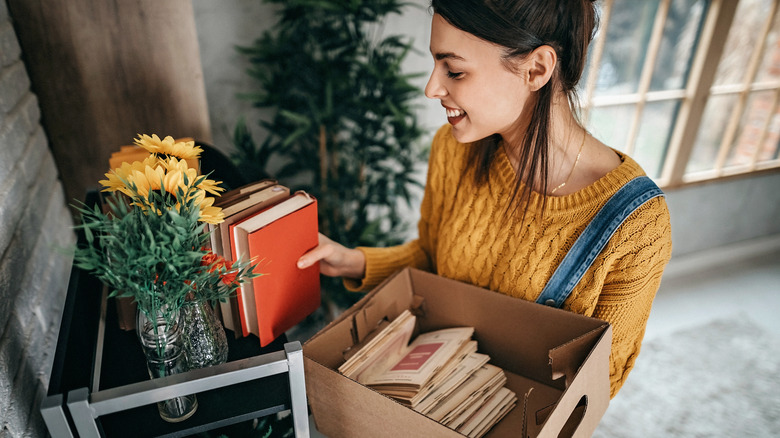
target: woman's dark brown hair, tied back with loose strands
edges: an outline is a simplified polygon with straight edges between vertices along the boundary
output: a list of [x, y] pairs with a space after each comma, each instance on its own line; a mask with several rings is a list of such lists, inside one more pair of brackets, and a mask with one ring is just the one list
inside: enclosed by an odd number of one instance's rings
[[[546, 85], [536, 93], [530, 123], [517, 146], [520, 166], [510, 200], [516, 210], [531, 195], [534, 181], [547, 192], [550, 119], [556, 91], [565, 93], [572, 108], [578, 108], [575, 87], [587, 60], [588, 45], [596, 31], [596, 11], [590, 0], [432, 0], [433, 12], [456, 28], [503, 46], [504, 60], [522, 59], [534, 49], [548, 45], [558, 63]], [[466, 172], [477, 185], [489, 180], [490, 165], [501, 146], [494, 134], [475, 143]], [[527, 184], [521, 190], [522, 182]], [[525, 209], [523, 210], [525, 217]]]

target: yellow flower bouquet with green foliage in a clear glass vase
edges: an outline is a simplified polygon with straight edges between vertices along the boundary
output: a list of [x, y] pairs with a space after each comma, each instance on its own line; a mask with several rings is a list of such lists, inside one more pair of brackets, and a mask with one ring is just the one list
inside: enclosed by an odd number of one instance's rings
[[[227, 262], [207, 248], [207, 223], [223, 219], [214, 207], [219, 182], [198, 175], [200, 148], [192, 141], [141, 135], [135, 143], [149, 152], [124, 162], [100, 181], [106, 209], [77, 207], [86, 244], [76, 248], [78, 267], [111, 288], [110, 296], [138, 305], [136, 330], [152, 378], [185, 371], [180, 314], [187, 305], [224, 300], [253, 276], [247, 262]], [[188, 304], [189, 303], [189, 304]], [[167, 421], [188, 418], [194, 395], [158, 403]]]

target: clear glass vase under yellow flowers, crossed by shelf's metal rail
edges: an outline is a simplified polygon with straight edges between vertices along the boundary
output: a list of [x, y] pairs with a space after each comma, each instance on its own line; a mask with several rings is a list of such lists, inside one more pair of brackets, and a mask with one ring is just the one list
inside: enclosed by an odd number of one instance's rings
[[[178, 312], [166, 313], [163, 309], [150, 318], [139, 310], [136, 315], [136, 333], [146, 356], [149, 377], [155, 379], [187, 371]], [[157, 402], [160, 417], [170, 423], [190, 418], [197, 409], [198, 399], [195, 394]]]

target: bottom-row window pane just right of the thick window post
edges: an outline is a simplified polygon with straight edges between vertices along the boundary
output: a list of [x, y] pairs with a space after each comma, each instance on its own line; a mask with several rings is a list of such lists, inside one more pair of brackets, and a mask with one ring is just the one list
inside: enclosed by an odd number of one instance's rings
[[723, 132], [734, 108], [737, 96], [733, 94], [710, 96], [702, 116], [701, 127], [696, 135], [696, 143], [685, 169], [686, 173], [711, 170], [715, 168]]

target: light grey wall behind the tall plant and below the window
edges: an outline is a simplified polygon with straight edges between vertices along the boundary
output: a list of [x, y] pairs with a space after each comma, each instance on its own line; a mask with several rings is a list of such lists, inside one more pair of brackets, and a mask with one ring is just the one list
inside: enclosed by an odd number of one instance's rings
[[[413, 3], [416, 7], [407, 8], [403, 17], [388, 19], [385, 34], [414, 39], [417, 52], [409, 56], [404, 68], [409, 73], [425, 72], [417, 79], [419, 120], [430, 138], [446, 121], [439, 102], [423, 96], [433, 65], [428, 51], [430, 14], [428, 0]], [[234, 46], [250, 44], [275, 18], [259, 0], [193, 0], [193, 5], [214, 143], [229, 150], [229, 134], [238, 117], [245, 115], [248, 124], [257, 120], [257, 112], [235, 97], [251, 91], [253, 84], [245, 73], [248, 63]], [[669, 190], [667, 195], [675, 257], [780, 234], [780, 173]], [[409, 214], [415, 216], [417, 211]], [[410, 219], [416, 221], [416, 217]]]

